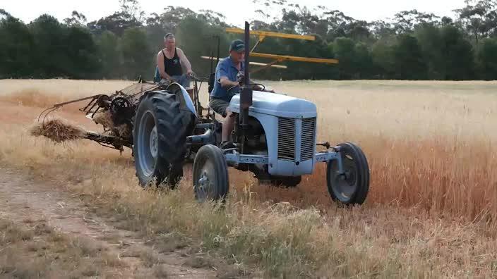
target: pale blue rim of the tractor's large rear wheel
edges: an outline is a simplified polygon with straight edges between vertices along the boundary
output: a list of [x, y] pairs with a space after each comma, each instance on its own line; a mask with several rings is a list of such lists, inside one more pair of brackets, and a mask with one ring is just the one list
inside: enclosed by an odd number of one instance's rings
[[144, 113], [138, 129], [138, 164], [145, 176], [151, 176], [155, 171], [159, 151], [157, 127], [155, 118], [150, 111]]

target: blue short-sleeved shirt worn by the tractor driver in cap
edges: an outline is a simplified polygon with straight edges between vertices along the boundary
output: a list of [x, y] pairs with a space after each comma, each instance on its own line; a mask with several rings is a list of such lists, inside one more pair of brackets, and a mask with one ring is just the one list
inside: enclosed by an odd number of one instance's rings
[[[241, 62], [241, 68], [240, 71], [244, 71], [244, 66], [245, 63]], [[215, 81], [214, 81], [214, 88], [212, 88], [212, 92], [210, 92], [210, 97], [218, 98], [218, 99], [224, 99], [225, 101], [229, 101], [232, 98], [232, 95], [234, 95], [237, 90], [239, 91], [239, 87], [235, 87], [230, 90], [230, 92], [227, 91], [229, 88], [223, 88], [221, 86], [221, 83], [219, 82], [220, 78], [222, 76], [228, 77], [229, 80], [231, 81], [236, 81], [236, 75], [238, 75], [239, 70], [236, 68], [236, 66], [233, 63], [233, 60], [231, 57], [227, 57], [219, 61], [216, 66], [216, 73], [215, 73]]]

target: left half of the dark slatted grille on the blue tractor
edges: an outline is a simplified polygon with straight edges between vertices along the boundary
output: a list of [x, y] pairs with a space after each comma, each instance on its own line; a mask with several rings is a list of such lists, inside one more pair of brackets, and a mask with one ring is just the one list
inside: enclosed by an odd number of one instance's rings
[[295, 159], [294, 118], [278, 118], [278, 158]]

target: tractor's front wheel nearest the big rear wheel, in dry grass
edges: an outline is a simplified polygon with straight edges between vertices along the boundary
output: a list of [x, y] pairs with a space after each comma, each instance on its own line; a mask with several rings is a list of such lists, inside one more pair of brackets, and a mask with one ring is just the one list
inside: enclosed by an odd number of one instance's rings
[[224, 154], [212, 144], [198, 149], [193, 161], [193, 192], [199, 202], [222, 200], [229, 190], [228, 167]]

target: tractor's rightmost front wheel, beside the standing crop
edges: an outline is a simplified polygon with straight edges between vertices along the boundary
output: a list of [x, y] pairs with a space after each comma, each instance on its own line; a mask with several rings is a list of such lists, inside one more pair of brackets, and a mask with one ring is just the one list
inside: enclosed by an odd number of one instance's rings
[[363, 204], [369, 192], [369, 165], [364, 152], [355, 144], [338, 144], [345, 174], [338, 173], [337, 160], [327, 163], [326, 182], [333, 201], [343, 205]]

